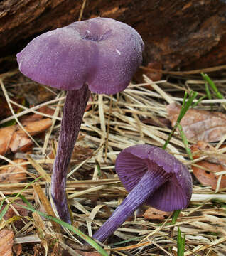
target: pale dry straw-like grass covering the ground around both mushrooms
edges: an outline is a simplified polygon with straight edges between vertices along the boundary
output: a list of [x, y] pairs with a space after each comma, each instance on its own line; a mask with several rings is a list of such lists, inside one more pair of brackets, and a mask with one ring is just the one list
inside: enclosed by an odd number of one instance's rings
[[[12, 105], [14, 101], [11, 97], [14, 96], [15, 88], [23, 87], [23, 83], [19, 82], [21, 75], [6, 73], [0, 78], [4, 95], [9, 105]], [[118, 95], [93, 95], [94, 100], [90, 102], [92, 107], [85, 112], [81, 127], [81, 135], [84, 137], [81, 137], [78, 142], [80, 146], [93, 149], [93, 154], [79, 163], [76, 159], [72, 159], [67, 183], [68, 198], [72, 206], [75, 225], [84, 233], [92, 235], [127, 195], [114, 172], [114, 162], [119, 152], [134, 144], [163, 146], [171, 132], [171, 129], [159, 122], [159, 118], [167, 118], [166, 105], [174, 101], [181, 102], [184, 91], [195, 90], [200, 96], [205, 94], [203, 80], [198, 75], [178, 77], [175, 81], [162, 80], [154, 84], [146, 77], [143, 84], [130, 84], [124, 92]], [[154, 87], [152, 91], [146, 89], [146, 85], [150, 84]], [[222, 95], [225, 95], [225, 80], [218, 81], [217, 87]], [[48, 191], [50, 166], [53, 164], [53, 160], [48, 159], [48, 153], [53, 149], [52, 142], [57, 139], [60, 126], [58, 112], [61, 112], [65, 99], [62, 92], [54, 97], [41, 104], [55, 109], [55, 114], [51, 116], [54, 121], [53, 126], [46, 133], [44, 140], [32, 138], [36, 146], [30, 157], [21, 154], [28, 160], [27, 163], [18, 165], [21, 171], [25, 171], [24, 164], [29, 164], [28, 171], [26, 171], [27, 183], [1, 183], [1, 200], [5, 196], [18, 193], [28, 185], [29, 181], [38, 176], [43, 176], [38, 182], [40, 189], [42, 188], [41, 191]], [[210, 110], [211, 103], [215, 110], [223, 111], [221, 103], [225, 102], [226, 100], [217, 99], [203, 100], [198, 105], [198, 109]], [[37, 112], [41, 105], [21, 110], [18, 114], [13, 112], [12, 117], [2, 120], [1, 124], [14, 118], [20, 124], [19, 117]], [[141, 122], [143, 119], [150, 119], [156, 125]], [[193, 142], [189, 143], [193, 144]], [[224, 140], [220, 142], [222, 143]], [[215, 146], [218, 149], [220, 145]], [[190, 169], [192, 163], [188, 160], [178, 133], [174, 134], [166, 150], [183, 161]], [[0, 156], [0, 169], [4, 169], [5, 164], [14, 164], [11, 161], [12, 157], [10, 154]], [[28, 186], [22, 194], [28, 200], [39, 202], [39, 208], [43, 207], [41, 193], [37, 193], [37, 189], [34, 190], [33, 186]], [[220, 201], [212, 201], [213, 198], [218, 198]], [[181, 232], [185, 234], [185, 255], [225, 255], [225, 201], [224, 189], [215, 193], [210, 187], [200, 186], [195, 181], [190, 206], [181, 211], [175, 225], [170, 225], [171, 215], [163, 221], [145, 220], [138, 216], [124, 223], [114, 233], [114, 236], [106, 243], [106, 250], [112, 252], [113, 255], [176, 255], [176, 231], [177, 227], [180, 227]], [[18, 215], [18, 212], [16, 214]], [[11, 224], [1, 221], [0, 228], [5, 225]], [[56, 235], [56, 229], [49, 222], [33, 214], [22, 230], [18, 230], [12, 224], [16, 235], [15, 243], [43, 242], [40, 231], [38, 233], [36, 227], [42, 227], [41, 233], [44, 234], [45, 239], [51, 240]], [[58, 234], [59, 246], [68, 250], [70, 255], [79, 255], [75, 247], [80, 246], [80, 241], [69, 233], [64, 233], [64, 238], [62, 238], [63, 231], [61, 233], [61, 235]], [[121, 243], [111, 245], [114, 242]], [[48, 243], [42, 244], [48, 247]], [[171, 250], [168, 250], [169, 247]], [[23, 255], [32, 254], [23, 252]]]

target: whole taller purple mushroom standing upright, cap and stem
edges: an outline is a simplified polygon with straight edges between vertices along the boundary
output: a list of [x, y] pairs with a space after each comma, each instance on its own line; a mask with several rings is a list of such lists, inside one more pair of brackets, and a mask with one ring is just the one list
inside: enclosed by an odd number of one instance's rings
[[43, 33], [17, 54], [21, 73], [68, 91], [51, 182], [55, 207], [68, 223], [66, 176], [90, 91], [124, 90], [141, 64], [143, 49], [134, 28], [111, 18], [92, 18]]

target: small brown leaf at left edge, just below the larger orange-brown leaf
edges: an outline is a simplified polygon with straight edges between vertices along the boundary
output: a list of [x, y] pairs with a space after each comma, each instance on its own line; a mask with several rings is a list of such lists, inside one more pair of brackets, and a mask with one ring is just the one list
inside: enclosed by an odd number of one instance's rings
[[[21, 164], [26, 162], [23, 159], [16, 159], [14, 163]], [[27, 166], [23, 165], [23, 168], [26, 169]], [[22, 171], [16, 166], [8, 164], [5, 166], [5, 169], [0, 170], [0, 183], [18, 183], [26, 179], [26, 172]]]

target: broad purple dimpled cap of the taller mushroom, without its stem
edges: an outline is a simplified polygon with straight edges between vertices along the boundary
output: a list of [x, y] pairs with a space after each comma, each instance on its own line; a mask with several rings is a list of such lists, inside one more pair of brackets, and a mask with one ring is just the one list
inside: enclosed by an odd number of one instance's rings
[[62, 90], [87, 83], [92, 92], [124, 90], [141, 64], [139, 33], [112, 18], [91, 18], [34, 38], [17, 56], [19, 70], [36, 82]]

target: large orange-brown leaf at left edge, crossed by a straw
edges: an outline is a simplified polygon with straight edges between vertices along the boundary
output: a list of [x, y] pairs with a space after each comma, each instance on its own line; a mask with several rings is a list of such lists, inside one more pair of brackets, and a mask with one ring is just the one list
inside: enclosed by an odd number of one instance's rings
[[[41, 119], [35, 122], [28, 122], [23, 127], [26, 131], [34, 136], [41, 132], [44, 132], [48, 129], [52, 124], [52, 120], [50, 118]], [[18, 127], [18, 125], [14, 125], [11, 127], [4, 127], [0, 129], [0, 154], [4, 155], [9, 151], [23, 151], [26, 152], [31, 150], [33, 142], [27, 136], [23, 130]]]

